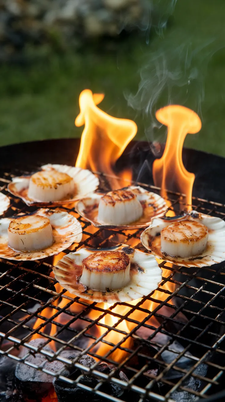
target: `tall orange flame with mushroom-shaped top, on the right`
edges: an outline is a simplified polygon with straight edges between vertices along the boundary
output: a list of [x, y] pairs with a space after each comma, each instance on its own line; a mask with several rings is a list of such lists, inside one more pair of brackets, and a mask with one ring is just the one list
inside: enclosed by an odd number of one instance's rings
[[164, 198], [166, 190], [184, 194], [186, 209], [190, 210], [195, 175], [184, 168], [182, 148], [187, 133], [199, 132], [201, 120], [194, 111], [180, 105], [170, 105], [159, 109], [156, 112], [156, 119], [168, 126], [168, 134], [164, 154], [153, 164], [154, 183], [161, 187]]

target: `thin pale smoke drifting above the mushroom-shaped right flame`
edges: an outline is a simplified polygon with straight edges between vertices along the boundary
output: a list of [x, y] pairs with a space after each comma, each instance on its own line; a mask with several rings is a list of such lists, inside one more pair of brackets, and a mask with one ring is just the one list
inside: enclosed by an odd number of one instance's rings
[[150, 117], [150, 126], [146, 129], [148, 140], [154, 140], [154, 129], [161, 127], [155, 119], [155, 112], [160, 107], [185, 105], [203, 118], [201, 104], [205, 98], [207, 65], [218, 50], [212, 50], [213, 43], [212, 39], [195, 45], [195, 48], [190, 42], [174, 48], [166, 42], [158, 51], [150, 51], [149, 61], [140, 71], [137, 93], [124, 94], [128, 106], [142, 112], [143, 117]]

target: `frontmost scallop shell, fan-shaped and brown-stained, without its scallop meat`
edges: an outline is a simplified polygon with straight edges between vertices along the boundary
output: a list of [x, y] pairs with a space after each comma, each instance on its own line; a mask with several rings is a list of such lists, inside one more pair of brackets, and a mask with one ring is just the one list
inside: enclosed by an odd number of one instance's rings
[[[121, 289], [103, 292], [86, 288], [79, 282], [82, 273], [82, 260], [100, 250], [117, 250], [125, 252], [129, 256], [131, 281], [128, 285]], [[70, 293], [97, 303], [101, 301], [116, 303], [139, 299], [157, 289], [162, 280], [162, 270], [158, 266], [156, 258], [126, 244], [119, 244], [107, 249], [81, 248], [79, 251], [71, 252], [59, 260], [57, 265], [53, 267], [53, 272], [55, 279]]]

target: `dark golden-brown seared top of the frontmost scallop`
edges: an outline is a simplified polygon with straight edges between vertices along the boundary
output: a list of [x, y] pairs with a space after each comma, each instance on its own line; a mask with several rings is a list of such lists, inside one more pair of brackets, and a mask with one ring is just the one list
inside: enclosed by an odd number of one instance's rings
[[129, 264], [128, 255], [120, 251], [98, 251], [82, 261], [83, 267], [94, 272], [124, 271]]

